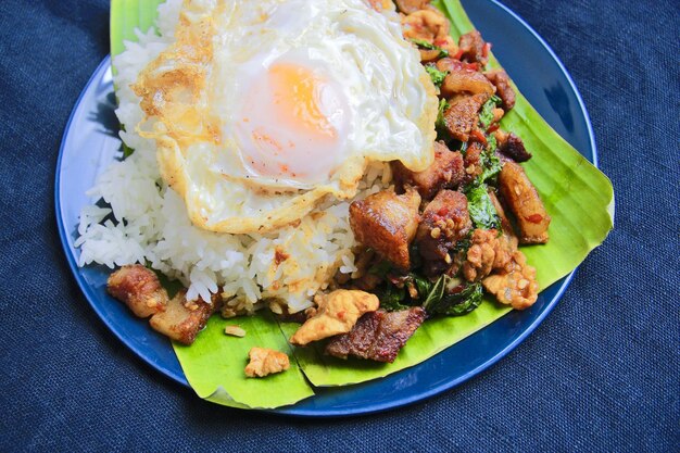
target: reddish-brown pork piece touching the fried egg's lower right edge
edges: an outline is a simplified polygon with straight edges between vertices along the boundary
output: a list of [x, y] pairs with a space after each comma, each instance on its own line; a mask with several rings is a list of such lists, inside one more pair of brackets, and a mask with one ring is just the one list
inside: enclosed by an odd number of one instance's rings
[[463, 155], [441, 141], [435, 142], [435, 162], [423, 172], [412, 172], [401, 162], [392, 162], [394, 179], [401, 187], [414, 186], [420, 197], [431, 199], [442, 188], [456, 188], [464, 179]]

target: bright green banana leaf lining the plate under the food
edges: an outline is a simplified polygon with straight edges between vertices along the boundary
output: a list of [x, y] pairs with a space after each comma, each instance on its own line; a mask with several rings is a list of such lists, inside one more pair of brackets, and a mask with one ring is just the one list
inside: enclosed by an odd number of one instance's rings
[[[159, 0], [113, 0], [111, 7], [112, 54], [135, 40], [134, 28], [152, 25]], [[458, 0], [433, 2], [452, 20], [452, 35], [474, 29]], [[492, 56], [490, 64], [499, 67]], [[512, 74], [511, 74], [512, 76]], [[515, 109], [502, 126], [520, 136], [533, 159], [525, 168], [539, 190], [553, 221], [545, 246], [522, 251], [537, 267], [541, 288], [546, 288], [578, 266], [601, 244], [613, 227], [614, 192], [605, 175], [557, 135], [518, 92]], [[268, 314], [224, 320], [213, 317], [191, 347], [173, 344], [185, 375], [199, 397], [237, 407], [276, 407], [313, 394], [316, 387], [344, 386], [380, 378], [414, 366], [463, 338], [499, 319], [511, 309], [491, 299], [463, 317], [440, 317], [423, 325], [392, 364], [326, 356], [316, 347], [297, 348], [291, 369], [265, 379], [248, 379], [242, 369], [252, 345], [289, 351], [287, 338], [295, 324], [276, 325]], [[224, 335], [227, 324], [239, 324], [245, 338]]]

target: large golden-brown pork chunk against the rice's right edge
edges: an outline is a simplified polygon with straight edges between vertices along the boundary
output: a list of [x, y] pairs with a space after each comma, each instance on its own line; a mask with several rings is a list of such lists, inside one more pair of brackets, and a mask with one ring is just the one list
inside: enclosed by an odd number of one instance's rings
[[350, 205], [350, 225], [356, 240], [408, 270], [408, 244], [418, 228], [420, 196], [415, 189], [398, 196], [382, 190]]

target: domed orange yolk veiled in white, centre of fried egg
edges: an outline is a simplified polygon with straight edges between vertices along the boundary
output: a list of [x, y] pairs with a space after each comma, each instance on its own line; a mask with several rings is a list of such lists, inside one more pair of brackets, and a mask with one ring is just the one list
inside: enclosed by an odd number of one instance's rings
[[255, 176], [324, 180], [340, 162], [347, 103], [318, 68], [277, 62], [253, 81], [237, 134]]

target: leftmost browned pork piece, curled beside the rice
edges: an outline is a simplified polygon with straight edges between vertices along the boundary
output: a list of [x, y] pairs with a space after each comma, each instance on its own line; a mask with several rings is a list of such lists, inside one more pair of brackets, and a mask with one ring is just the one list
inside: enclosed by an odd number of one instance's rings
[[109, 276], [106, 290], [139, 317], [162, 312], [167, 305], [167, 292], [155, 273], [141, 264], [121, 267]]

